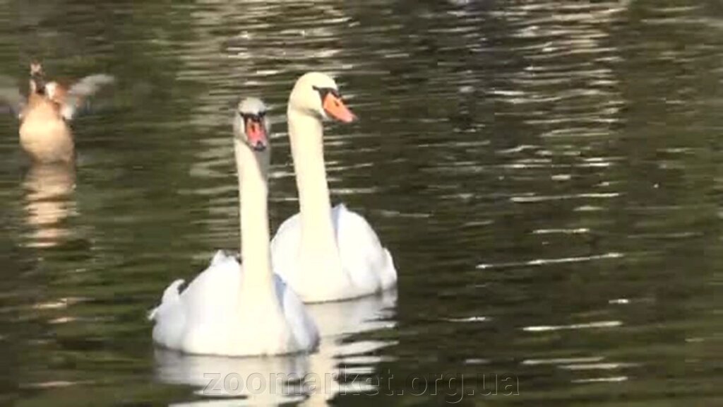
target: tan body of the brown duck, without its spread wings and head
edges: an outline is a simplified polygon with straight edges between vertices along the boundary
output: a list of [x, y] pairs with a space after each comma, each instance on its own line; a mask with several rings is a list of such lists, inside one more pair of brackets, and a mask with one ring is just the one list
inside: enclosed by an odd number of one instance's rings
[[30, 159], [42, 163], [74, 160], [73, 135], [59, 104], [31, 93], [20, 117], [20, 146]]

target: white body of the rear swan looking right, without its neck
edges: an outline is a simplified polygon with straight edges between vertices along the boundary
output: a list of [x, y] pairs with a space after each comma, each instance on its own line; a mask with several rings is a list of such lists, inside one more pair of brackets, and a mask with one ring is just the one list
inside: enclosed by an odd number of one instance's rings
[[[301, 253], [301, 214], [286, 219], [271, 241], [273, 265], [305, 302], [339, 301], [394, 288], [397, 272], [367, 219], [344, 204], [330, 213], [338, 258], [332, 251]], [[304, 258], [304, 261], [299, 259]], [[304, 263], [309, 269], [304, 269]], [[315, 277], [320, 276], [320, 277]]]

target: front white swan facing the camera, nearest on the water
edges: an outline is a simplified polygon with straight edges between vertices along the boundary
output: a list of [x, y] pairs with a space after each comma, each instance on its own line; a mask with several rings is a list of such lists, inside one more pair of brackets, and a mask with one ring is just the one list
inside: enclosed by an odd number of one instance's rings
[[304, 304], [271, 271], [265, 112], [262, 101], [247, 98], [234, 117], [243, 269], [219, 251], [182, 293], [183, 280], [171, 283], [149, 314], [159, 345], [187, 353], [254, 356], [312, 351], [319, 343]]

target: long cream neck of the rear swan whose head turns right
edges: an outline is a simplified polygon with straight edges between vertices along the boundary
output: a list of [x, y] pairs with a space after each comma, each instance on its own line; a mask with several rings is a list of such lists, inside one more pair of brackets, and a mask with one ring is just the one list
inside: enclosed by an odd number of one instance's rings
[[326, 253], [338, 258], [326, 180], [322, 122], [291, 106], [287, 114], [296, 188], [299, 189], [301, 251]]

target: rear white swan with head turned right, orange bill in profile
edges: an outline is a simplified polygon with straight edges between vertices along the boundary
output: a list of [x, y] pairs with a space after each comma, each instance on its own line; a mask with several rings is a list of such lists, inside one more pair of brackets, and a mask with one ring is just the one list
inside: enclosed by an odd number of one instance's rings
[[334, 80], [319, 72], [301, 76], [287, 115], [299, 214], [286, 219], [271, 242], [275, 272], [304, 302], [340, 301], [394, 287], [392, 256], [367, 220], [343, 204], [331, 207], [322, 119], [355, 119]]

